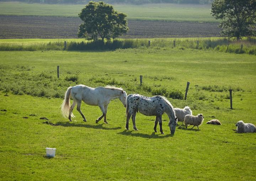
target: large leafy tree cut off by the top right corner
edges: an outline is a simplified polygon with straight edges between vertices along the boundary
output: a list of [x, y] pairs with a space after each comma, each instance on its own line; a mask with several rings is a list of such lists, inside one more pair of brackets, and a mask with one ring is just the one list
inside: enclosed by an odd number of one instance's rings
[[255, 35], [256, 0], [214, 0], [212, 15], [221, 19], [222, 35], [236, 37]]

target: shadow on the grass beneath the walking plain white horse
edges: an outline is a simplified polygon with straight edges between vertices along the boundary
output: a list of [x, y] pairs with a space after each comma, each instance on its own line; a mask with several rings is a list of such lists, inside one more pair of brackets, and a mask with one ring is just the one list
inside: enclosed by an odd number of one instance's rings
[[70, 122], [66, 122], [66, 123], [62, 123], [62, 122], [57, 122], [55, 124], [56, 126], [64, 126], [64, 127], [84, 127], [84, 128], [93, 128], [93, 129], [103, 129], [103, 130], [118, 130], [121, 129], [121, 127], [116, 127], [116, 128], [107, 128], [103, 125], [105, 125], [105, 123], [102, 124], [96, 124], [96, 125], [91, 125], [91, 124], [74, 124], [74, 123], [70, 123]]

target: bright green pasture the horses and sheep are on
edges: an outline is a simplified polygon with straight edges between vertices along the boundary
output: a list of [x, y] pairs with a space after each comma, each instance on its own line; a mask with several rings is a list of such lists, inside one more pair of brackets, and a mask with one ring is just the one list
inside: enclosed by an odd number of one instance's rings
[[[256, 124], [254, 55], [144, 48], [1, 51], [0, 57], [0, 110], [7, 110], [0, 111], [0, 180], [255, 180], [256, 134], [234, 131], [238, 120]], [[65, 80], [74, 75], [75, 82]], [[60, 113], [68, 86], [113, 82], [128, 94], [151, 96], [143, 87], [185, 94], [187, 81], [186, 101], [168, 99], [174, 107], [190, 106], [194, 115], [202, 113], [199, 130], [177, 126], [171, 136], [164, 115], [165, 135], [155, 134], [155, 117], [138, 113], [139, 131], [126, 131], [126, 109], [118, 99], [109, 104], [109, 124], [96, 124], [100, 108], [84, 103], [87, 123], [77, 111], [71, 123]], [[229, 88], [234, 90], [232, 110]], [[30, 96], [37, 91], [42, 97]], [[54, 98], [56, 92], [60, 98]], [[40, 117], [59, 126], [42, 124], [46, 120]], [[222, 125], [206, 124], [214, 118]], [[45, 157], [46, 147], [57, 148], [54, 158]]]

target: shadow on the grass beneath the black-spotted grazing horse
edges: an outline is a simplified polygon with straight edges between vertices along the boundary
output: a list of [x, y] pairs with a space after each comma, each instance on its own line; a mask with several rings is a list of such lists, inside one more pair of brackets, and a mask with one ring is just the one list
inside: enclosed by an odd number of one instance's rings
[[167, 135], [160, 135], [156, 132], [153, 132], [151, 135], [139, 133], [136, 131], [136, 133], [133, 133], [135, 131], [127, 131], [124, 130], [122, 132], [119, 132], [117, 134], [124, 135], [124, 136], [136, 136], [136, 137], [143, 137], [143, 138], [166, 138], [166, 137], [173, 137], [174, 134], [167, 134]]

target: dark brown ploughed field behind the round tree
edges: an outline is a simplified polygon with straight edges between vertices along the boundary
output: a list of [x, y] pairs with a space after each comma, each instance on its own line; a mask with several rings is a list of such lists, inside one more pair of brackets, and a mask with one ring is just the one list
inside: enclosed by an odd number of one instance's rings
[[[0, 15], [0, 39], [77, 38], [77, 17]], [[218, 23], [129, 20], [129, 32], [121, 38], [182, 38], [220, 36]]]

